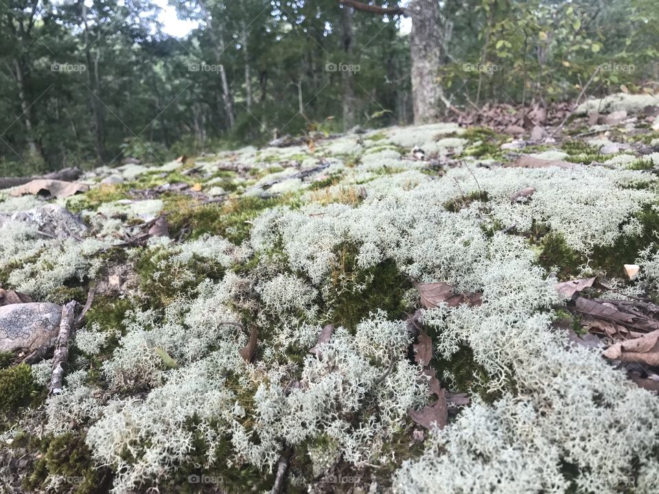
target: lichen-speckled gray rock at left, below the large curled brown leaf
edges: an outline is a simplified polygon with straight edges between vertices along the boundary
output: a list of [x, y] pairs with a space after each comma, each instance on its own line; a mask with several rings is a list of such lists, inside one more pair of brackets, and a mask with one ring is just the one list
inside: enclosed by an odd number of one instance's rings
[[18, 213], [0, 214], [0, 224], [9, 220], [26, 222], [44, 235], [58, 239], [82, 237], [89, 231], [89, 227], [80, 220], [80, 217], [56, 204], [46, 204], [43, 207]]

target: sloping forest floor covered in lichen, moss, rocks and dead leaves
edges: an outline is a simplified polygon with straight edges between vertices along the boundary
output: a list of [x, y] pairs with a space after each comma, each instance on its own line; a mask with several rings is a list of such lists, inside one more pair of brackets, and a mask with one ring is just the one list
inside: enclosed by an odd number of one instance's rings
[[3, 191], [0, 493], [656, 494], [659, 97], [458, 119]]

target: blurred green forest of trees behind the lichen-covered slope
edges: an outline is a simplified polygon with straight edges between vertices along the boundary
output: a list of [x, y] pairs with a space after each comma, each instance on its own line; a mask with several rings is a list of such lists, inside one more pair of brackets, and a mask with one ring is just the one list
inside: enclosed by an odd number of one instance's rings
[[[146, 0], [0, 1], [0, 174], [413, 121], [402, 15], [337, 0], [170, 3], [196, 22], [185, 37], [165, 34]], [[589, 95], [656, 91], [656, 0], [446, 0], [437, 25], [439, 115], [570, 101], [589, 80]]]

